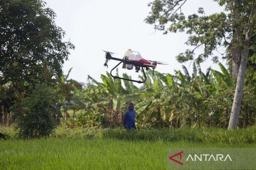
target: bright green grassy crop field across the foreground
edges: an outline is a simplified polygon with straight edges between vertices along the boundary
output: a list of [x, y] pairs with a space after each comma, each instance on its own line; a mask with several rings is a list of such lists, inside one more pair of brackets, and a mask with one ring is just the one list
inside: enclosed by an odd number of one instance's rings
[[[194, 139], [196, 135], [187, 136], [188, 140], [183, 138], [167, 140], [171, 135], [177, 135], [182, 131], [195, 133], [193, 129], [149, 130], [132, 133], [109, 130], [100, 138], [50, 137], [0, 141], [0, 169], [166, 169], [167, 148], [256, 147], [255, 128], [242, 131], [243, 135], [248, 133], [250, 136], [250, 139], [245, 141], [240, 140], [239, 131], [225, 131], [228, 138], [232, 140], [226, 140], [226, 142], [218, 140], [216, 129], [197, 131], [209, 133], [210, 138], [215, 136], [215, 141], [207, 141], [207, 139], [197, 141]], [[210, 133], [210, 131], [213, 132]], [[219, 131], [222, 132], [222, 130]], [[169, 136], [166, 134], [163, 137], [160, 135], [162, 133], [169, 133]], [[134, 139], [129, 135], [135, 136]], [[181, 136], [184, 137], [184, 135], [186, 134]], [[122, 136], [121, 139], [116, 139], [120, 136]], [[152, 139], [153, 136], [155, 136], [154, 139]]]

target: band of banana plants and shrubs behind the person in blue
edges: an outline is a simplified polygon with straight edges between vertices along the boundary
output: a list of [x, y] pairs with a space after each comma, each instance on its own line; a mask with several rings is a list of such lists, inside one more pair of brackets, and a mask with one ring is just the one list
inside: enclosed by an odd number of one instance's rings
[[[177, 71], [173, 76], [155, 72], [153, 81], [148, 71], [148, 80], [141, 88], [127, 81], [124, 82], [123, 87], [120, 80], [112, 79], [107, 72], [107, 76], [101, 75], [103, 83], [88, 76], [86, 87], [78, 89], [75, 88], [76, 83], [73, 80], [68, 80], [67, 75], [62, 77], [63, 83], [58, 87], [59, 89], [52, 89], [44, 84], [40, 85], [42, 89], [37, 89], [39, 87], [36, 86], [36, 89], [22, 99], [19, 105], [13, 106], [14, 110], [9, 115], [15, 115], [16, 109], [20, 107], [22, 111], [26, 111], [28, 115], [20, 117], [17, 125], [23, 136], [31, 137], [36, 137], [35, 134], [40, 136], [45, 132], [40, 132], [40, 129], [36, 128], [38, 126], [33, 127], [29, 120], [33, 120], [35, 125], [47, 123], [48, 127], [57, 126], [59, 124], [57, 120], [64, 123], [67, 128], [122, 127], [123, 112], [127, 110], [129, 102], [135, 104], [137, 127], [227, 128], [234, 95], [234, 82], [227, 69], [222, 64], [219, 65], [223, 73], [209, 68], [204, 74], [200, 65], [196, 67], [194, 63], [192, 76], [183, 66], [185, 74]], [[123, 77], [127, 76], [123, 75]], [[66, 94], [64, 97], [57, 96], [61, 99], [56, 100], [53, 95], [58, 94], [60, 90], [62, 93], [66, 90]], [[251, 84], [246, 85], [244, 93], [251, 95], [243, 97], [239, 123], [241, 128], [254, 125], [256, 121], [255, 87]], [[35, 102], [38, 104], [31, 104]], [[39, 106], [42, 107], [40, 109], [42, 114], [34, 115], [33, 109], [36, 110]], [[49, 117], [49, 120], [45, 121], [47, 118], [43, 115], [49, 111], [52, 118]], [[42, 121], [36, 122], [33, 119], [36, 115]], [[41, 115], [42, 117], [39, 117]], [[32, 127], [33, 131], [30, 133], [33, 134], [29, 134]]]

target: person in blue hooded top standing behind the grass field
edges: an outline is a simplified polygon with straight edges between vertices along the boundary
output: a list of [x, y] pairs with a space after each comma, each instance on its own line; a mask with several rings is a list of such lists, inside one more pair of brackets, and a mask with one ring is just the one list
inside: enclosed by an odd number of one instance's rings
[[124, 128], [130, 130], [131, 127], [133, 127], [136, 130], [135, 116], [136, 116], [136, 112], [134, 111], [134, 105], [133, 103], [130, 103], [128, 106], [128, 110], [124, 113], [124, 116], [123, 116]]

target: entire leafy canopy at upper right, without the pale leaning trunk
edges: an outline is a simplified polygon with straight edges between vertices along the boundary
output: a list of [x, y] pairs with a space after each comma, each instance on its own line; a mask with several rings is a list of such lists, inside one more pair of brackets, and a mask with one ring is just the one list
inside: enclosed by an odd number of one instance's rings
[[[213, 52], [217, 51], [218, 47], [227, 48], [227, 55], [220, 54], [228, 60], [232, 58], [232, 51], [243, 49], [243, 44], [246, 42], [245, 29], [254, 4], [253, 0], [217, 1], [220, 6], [225, 7], [225, 12], [208, 16], [205, 15], [203, 8], [198, 8], [197, 13], [188, 16], [184, 16], [182, 12], [179, 13], [185, 2], [186, 0], [154, 0], [148, 4], [151, 11], [144, 20], [148, 24], [153, 24], [155, 30], [164, 31], [164, 34], [186, 32], [189, 35], [186, 44], [193, 48], [178, 54], [177, 61], [186, 62], [195, 59], [197, 63], [200, 63], [212, 57], [212, 61], [217, 63], [219, 57], [213, 56]], [[235, 14], [236, 11], [238, 16]], [[254, 22], [255, 17], [252, 20]], [[170, 25], [168, 29], [165, 28], [166, 25]], [[252, 30], [255, 30], [255, 27], [252, 27]], [[241, 35], [238, 35], [236, 31], [241, 32]], [[253, 32], [255, 31], [252, 31], [252, 37], [255, 36]], [[255, 53], [255, 40], [252, 40], [250, 45], [250, 49]], [[203, 52], [195, 56], [194, 51], [199, 47], [203, 48]], [[252, 55], [250, 60], [254, 61], [255, 57]]]

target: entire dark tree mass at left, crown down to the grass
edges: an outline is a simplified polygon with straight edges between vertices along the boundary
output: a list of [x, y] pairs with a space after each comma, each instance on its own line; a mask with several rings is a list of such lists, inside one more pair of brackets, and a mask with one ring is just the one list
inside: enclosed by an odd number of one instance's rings
[[62, 65], [75, 48], [63, 41], [65, 31], [55, 17], [42, 0], [0, 1], [0, 121], [12, 112], [24, 136], [53, 129], [56, 115], [49, 96], [56, 98]]

